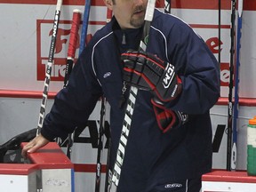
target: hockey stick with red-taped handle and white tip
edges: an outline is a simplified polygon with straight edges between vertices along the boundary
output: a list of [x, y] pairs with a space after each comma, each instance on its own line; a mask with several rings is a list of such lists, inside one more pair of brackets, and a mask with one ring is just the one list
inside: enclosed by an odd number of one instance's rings
[[[65, 69], [65, 77], [64, 77], [64, 88], [68, 84], [68, 79], [71, 74], [75, 56], [76, 56], [76, 44], [77, 44], [77, 37], [78, 37], [78, 30], [81, 21], [81, 12], [80, 10], [75, 9], [73, 11], [73, 18], [69, 36], [69, 44], [68, 44], [68, 57]], [[68, 134], [68, 144], [67, 144], [67, 156], [70, 159], [71, 156], [71, 147], [73, 146], [73, 133]]]

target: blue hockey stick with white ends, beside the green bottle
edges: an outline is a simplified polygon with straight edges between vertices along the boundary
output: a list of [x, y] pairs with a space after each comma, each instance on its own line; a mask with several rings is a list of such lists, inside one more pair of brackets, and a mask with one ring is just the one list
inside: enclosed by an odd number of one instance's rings
[[238, 84], [239, 84], [239, 67], [240, 67], [240, 48], [241, 48], [241, 36], [242, 36], [242, 14], [243, 14], [243, 0], [238, 0], [238, 18], [236, 29], [236, 70], [235, 70], [235, 100], [234, 100], [234, 119], [233, 119], [233, 146], [232, 146], [232, 158], [231, 169], [236, 170], [236, 142], [237, 142], [237, 119], [238, 119]]

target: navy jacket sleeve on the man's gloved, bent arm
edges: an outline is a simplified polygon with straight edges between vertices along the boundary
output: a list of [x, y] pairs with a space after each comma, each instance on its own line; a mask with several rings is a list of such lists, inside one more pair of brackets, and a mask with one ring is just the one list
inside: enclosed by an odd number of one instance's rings
[[168, 46], [172, 52], [170, 61], [182, 80], [182, 92], [171, 108], [187, 114], [204, 114], [220, 97], [220, 67], [215, 56], [184, 23], [172, 27]]

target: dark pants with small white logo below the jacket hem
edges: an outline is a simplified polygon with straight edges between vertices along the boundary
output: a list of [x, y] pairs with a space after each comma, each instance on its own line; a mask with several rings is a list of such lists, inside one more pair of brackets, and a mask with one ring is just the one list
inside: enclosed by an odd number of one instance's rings
[[150, 192], [200, 192], [202, 187], [201, 178], [192, 180], [180, 180], [172, 183], [164, 183], [156, 186]]

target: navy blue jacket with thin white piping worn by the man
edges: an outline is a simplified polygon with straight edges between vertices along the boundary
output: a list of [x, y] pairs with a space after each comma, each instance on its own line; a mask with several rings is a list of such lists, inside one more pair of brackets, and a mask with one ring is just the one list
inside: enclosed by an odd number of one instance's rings
[[[45, 138], [66, 137], [76, 125], [84, 124], [104, 94], [111, 106], [113, 166], [125, 110], [119, 106], [123, 88], [120, 53], [137, 50], [141, 33], [142, 28], [121, 30], [115, 17], [95, 33], [77, 60], [67, 88], [57, 94], [45, 116]], [[147, 52], [172, 63], [182, 80], [180, 97], [165, 107], [193, 117], [163, 133], [150, 102], [154, 95], [138, 92], [118, 187], [121, 192], [156, 191], [158, 185], [198, 178], [212, 168], [209, 109], [220, 96], [218, 62], [188, 24], [158, 10], [151, 23]]]

